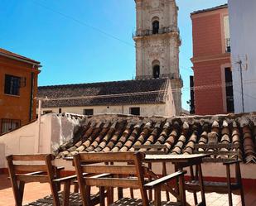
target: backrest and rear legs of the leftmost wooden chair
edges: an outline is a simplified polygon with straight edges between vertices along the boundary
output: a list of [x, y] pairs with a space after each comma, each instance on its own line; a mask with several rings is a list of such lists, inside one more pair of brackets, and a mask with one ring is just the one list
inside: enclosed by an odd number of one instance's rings
[[54, 156], [50, 154], [12, 155], [7, 156], [7, 165], [12, 190], [17, 206], [22, 206], [24, 184], [29, 182], [49, 182], [56, 206], [60, 205], [57, 198], [56, 167], [51, 165]]

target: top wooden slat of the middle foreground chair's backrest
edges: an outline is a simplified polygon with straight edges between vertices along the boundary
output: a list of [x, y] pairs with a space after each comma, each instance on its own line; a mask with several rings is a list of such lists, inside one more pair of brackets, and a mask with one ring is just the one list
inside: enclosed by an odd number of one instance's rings
[[[141, 153], [142, 154], [142, 153]], [[134, 152], [109, 152], [109, 153], [80, 153], [80, 161], [83, 162], [113, 162], [134, 160]]]

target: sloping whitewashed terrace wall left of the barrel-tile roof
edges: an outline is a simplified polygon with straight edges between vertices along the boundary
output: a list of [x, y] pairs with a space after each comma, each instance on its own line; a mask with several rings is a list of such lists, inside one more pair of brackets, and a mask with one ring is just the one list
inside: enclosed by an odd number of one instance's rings
[[58, 117], [51, 113], [41, 117], [40, 138], [38, 121], [2, 135], [0, 137], [0, 168], [7, 167], [5, 157], [12, 154], [55, 151], [64, 141], [73, 138], [76, 125], [79, 125], [79, 122], [74, 118]]

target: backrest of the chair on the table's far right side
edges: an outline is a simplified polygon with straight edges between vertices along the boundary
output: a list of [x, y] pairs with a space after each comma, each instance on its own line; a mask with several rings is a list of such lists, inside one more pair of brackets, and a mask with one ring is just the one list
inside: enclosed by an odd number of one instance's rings
[[194, 153], [210, 154], [209, 158], [204, 158], [205, 162], [226, 162], [238, 160], [239, 145], [235, 144], [196, 144]]

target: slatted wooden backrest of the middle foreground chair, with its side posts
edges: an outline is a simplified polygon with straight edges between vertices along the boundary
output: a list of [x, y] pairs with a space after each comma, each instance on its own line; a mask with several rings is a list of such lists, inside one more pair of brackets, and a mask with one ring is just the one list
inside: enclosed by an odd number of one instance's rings
[[[145, 167], [142, 152], [80, 153], [75, 156], [75, 170], [82, 197], [88, 196], [85, 186], [120, 187], [141, 189], [142, 199], [147, 205], [144, 189]], [[95, 164], [95, 162], [98, 162]], [[110, 163], [110, 164], [109, 164]], [[88, 173], [91, 177], [84, 177]], [[102, 175], [104, 174], [104, 175]], [[93, 176], [92, 176], [93, 175]], [[135, 178], [128, 178], [133, 175]], [[83, 200], [86, 202], [86, 200]]]

